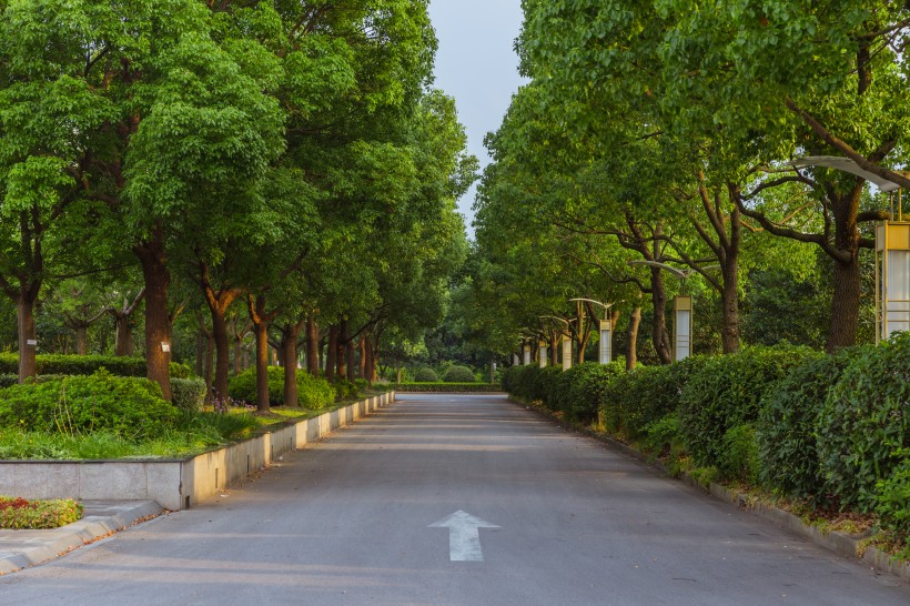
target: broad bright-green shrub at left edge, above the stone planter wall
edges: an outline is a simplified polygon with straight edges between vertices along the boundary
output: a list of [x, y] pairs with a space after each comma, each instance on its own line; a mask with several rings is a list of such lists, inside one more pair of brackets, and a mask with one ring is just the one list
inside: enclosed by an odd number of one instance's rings
[[0, 426], [24, 431], [110, 430], [124, 437], [150, 437], [171, 427], [176, 415], [156, 383], [103, 370], [0, 391]]

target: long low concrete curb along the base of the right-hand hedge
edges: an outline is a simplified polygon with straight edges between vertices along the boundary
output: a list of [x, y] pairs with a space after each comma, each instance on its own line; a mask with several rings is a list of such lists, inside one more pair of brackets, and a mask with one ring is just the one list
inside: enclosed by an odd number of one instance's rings
[[[592, 437], [603, 443], [604, 445], [610, 447], [611, 450], [621, 452], [623, 454], [626, 454], [657, 469], [660, 469], [667, 476], [674, 477], [673, 474], [669, 473], [669, 469], [667, 469], [667, 467], [663, 463], [660, 463], [651, 456], [648, 456], [639, 451], [636, 451], [627, 444], [623, 444], [621, 442], [618, 442], [607, 435], [597, 433], [593, 430], [577, 427], [575, 425], [566, 423], [562, 418], [556, 417], [549, 411], [540, 408], [539, 406], [533, 406], [524, 402], [518, 402], [517, 400], [512, 400], [510, 397], [508, 398], [508, 401], [513, 404], [525, 406], [526, 408], [535, 411], [540, 416], [557, 423], [559, 426], [566, 430], [570, 430], [584, 434], [588, 437]], [[706, 489], [705, 486], [699, 484], [695, 478], [692, 478], [686, 473], [683, 473], [679, 476], [679, 479], [690, 484], [691, 486], [695, 486], [696, 488], [707, 492], [716, 498], [736, 505], [740, 509], [751, 512], [755, 515], [761, 517], [762, 519], [774, 522], [775, 524], [792, 532], [793, 534], [797, 534], [799, 536], [807, 538], [808, 541], [811, 541], [820, 547], [835, 552], [845, 557], [859, 559], [868, 564], [871, 568], [894, 575], [901, 578], [902, 580], [910, 583], [910, 562], [897, 560], [889, 556], [887, 553], [873, 546], [866, 545], [865, 539], [869, 538], [871, 533], [863, 533], [860, 535], [848, 535], [846, 533], [839, 532], [823, 532], [816, 526], [806, 524], [802, 521], [802, 518], [795, 514], [791, 514], [790, 512], [786, 512], [768, 503], [758, 502], [745, 493], [730, 491], [726, 486], [721, 486], [720, 484], [717, 484], [715, 482], [711, 482], [710, 486]]]

